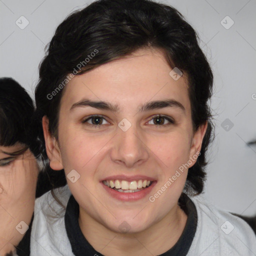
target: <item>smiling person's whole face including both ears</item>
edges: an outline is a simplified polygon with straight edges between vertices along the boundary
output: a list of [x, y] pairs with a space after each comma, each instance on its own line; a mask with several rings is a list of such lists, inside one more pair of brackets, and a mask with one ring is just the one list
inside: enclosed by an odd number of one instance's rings
[[64, 168], [80, 217], [139, 232], [176, 211], [187, 168], [176, 171], [194, 164], [206, 125], [193, 132], [186, 79], [171, 69], [161, 51], [140, 49], [66, 85], [58, 142], [43, 118], [50, 166]]

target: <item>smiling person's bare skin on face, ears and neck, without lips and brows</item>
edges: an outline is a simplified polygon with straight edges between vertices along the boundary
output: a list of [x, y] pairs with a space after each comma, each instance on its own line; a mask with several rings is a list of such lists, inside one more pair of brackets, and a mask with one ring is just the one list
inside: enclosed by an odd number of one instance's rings
[[[187, 169], [154, 202], [148, 200], [200, 151], [207, 126], [193, 132], [185, 74], [175, 81], [169, 75], [171, 69], [160, 50], [139, 49], [75, 76], [65, 86], [58, 140], [49, 133], [46, 116], [42, 118], [50, 166], [80, 174], [74, 183], [67, 179], [79, 204], [79, 226], [88, 242], [104, 255], [158, 255], [171, 248], [184, 229], [187, 216], [177, 201]], [[70, 110], [85, 98], [118, 104], [120, 109], [79, 106]], [[184, 110], [172, 106], [138, 112], [141, 104], [167, 98], [180, 102]], [[92, 126], [95, 118], [82, 123], [92, 114], [103, 115], [101, 125]], [[169, 116], [174, 124], [162, 119], [157, 125], [153, 117], [157, 114]], [[123, 118], [131, 123], [125, 132], [118, 127]], [[117, 174], [147, 175], [157, 183], [142, 199], [120, 201], [99, 183]], [[123, 221], [130, 227], [128, 232], [118, 228]]]

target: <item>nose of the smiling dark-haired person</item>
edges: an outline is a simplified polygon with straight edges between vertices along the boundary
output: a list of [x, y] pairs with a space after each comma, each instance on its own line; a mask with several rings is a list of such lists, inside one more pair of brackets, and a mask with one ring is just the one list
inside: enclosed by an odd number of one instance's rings
[[111, 160], [127, 168], [145, 162], [149, 156], [145, 140], [142, 134], [137, 132], [135, 125], [131, 125], [126, 131], [118, 128], [110, 153]]

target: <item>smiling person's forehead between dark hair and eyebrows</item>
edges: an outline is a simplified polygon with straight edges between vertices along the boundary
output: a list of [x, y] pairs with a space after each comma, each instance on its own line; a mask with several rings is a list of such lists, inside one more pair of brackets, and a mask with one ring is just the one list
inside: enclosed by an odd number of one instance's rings
[[65, 86], [61, 107], [82, 98], [104, 100], [122, 109], [137, 107], [149, 100], [172, 98], [189, 108], [187, 80], [174, 80], [164, 54], [156, 49], [139, 49], [125, 57], [74, 76]]

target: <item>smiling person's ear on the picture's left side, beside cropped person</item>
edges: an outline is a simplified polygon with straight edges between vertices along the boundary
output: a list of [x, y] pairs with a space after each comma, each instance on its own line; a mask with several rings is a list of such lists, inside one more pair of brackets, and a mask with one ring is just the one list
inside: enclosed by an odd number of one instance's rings
[[44, 115], [42, 117], [42, 129], [45, 140], [46, 153], [50, 161], [50, 167], [53, 170], [61, 170], [63, 169], [61, 154], [59, 150], [59, 146], [55, 137], [51, 135], [49, 132], [49, 120]]

